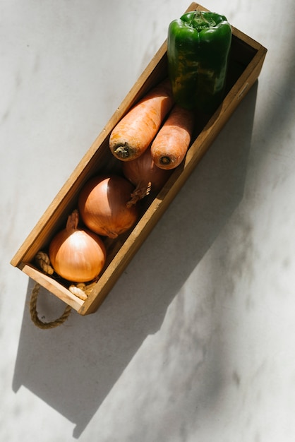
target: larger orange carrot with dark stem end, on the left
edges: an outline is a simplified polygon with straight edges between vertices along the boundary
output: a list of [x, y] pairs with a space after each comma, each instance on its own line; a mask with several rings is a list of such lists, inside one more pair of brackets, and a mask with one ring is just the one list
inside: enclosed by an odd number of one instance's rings
[[114, 127], [109, 138], [112, 154], [134, 160], [150, 146], [173, 105], [169, 80], [152, 88]]

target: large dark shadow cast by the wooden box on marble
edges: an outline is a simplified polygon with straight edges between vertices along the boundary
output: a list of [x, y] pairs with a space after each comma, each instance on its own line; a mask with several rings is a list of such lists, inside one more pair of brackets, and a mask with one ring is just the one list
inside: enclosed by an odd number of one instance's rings
[[[28, 311], [29, 280], [13, 390], [24, 386], [76, 424], [73, 437], [83, 433], [145, 339], [161, 328], [169, 304], [243, 198], [257, 88], [255, 83], [96, 313], [74, 312], [64, 325], [40, 330]], [[41, 289], [41, 316], [50, 321], [63, 310]]]

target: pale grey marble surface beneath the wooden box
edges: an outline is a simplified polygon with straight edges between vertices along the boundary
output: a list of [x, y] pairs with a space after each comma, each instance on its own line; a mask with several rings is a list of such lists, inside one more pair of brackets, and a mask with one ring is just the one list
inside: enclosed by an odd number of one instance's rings
[[10, 265], [188, 5], [0, 2], [1, 441], [295, 440], [293, 0], [203, 3], [263, 71], [97, 313]]

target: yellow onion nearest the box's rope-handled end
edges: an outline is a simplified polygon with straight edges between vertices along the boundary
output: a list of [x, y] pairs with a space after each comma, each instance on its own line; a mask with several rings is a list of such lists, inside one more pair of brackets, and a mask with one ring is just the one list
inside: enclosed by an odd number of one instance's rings
[[72, 282], [94, 280], [104, 267], [106, 250], [97, 234], [78, 228], [78, 210], [49, 244], [49, 260], [58, 275]]

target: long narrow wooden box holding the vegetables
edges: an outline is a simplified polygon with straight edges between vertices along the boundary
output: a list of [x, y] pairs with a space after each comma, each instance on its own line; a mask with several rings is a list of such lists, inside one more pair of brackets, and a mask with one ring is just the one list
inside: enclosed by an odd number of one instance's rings
[[[191, 4], [188, 11], [206, 8], [198, 4]], [[169, 23], [167, 23], [168, 29]], [[34, 265], [34, 257], [40, 250], [46, 250], [50, 239], [66, 225], [66, 218], [76, 208], [78, 194], [82, 186], [90, 177], [100, 172], [112, 172], [116, 169], [116, 160], [109, 150], [109, 134], [121, 117], [135, 104], [140, 97], [167, 77], [167, 43], [150, 61], [145, 71], [138, 78], [133, 88], [128, 92], [112, 118], [84, 155], [66, 184], [47, 208], [44, 215], [28, 238], [25, 239], [11, 264], [18, 267], [26, 275], [45, 287], [49, 292], [62, 299], [66, 304], [78, 311], [81, 315], [93, 313], [118, 280], [131, 258], [138, 251], [143, 241], [157, 224], [157, 221], [167, 209], [176, 193], [191, 174], [206, 150], [210, 147], [222, 126], [227, 122], [234, 109], [239, 105], [255, 80], [257, 80], [263, 66], [267, 49], [258, 42], [233, 27], [231, 55], [227, 78], [227, 92], [219, 109], [209, 119], [201, 121], [195, 128], [191, 147], [188, 150], [183, 164], [176, 168], [157, 195], [145, 198], [140, 219], [130, 232], [121, 235], [118, 239], [106, 241], [107, 263], [100, 279], [95, 284], [88, 298], [82, 299], [73, 295], [66, 285], [58, 278], [45, 275]]]

